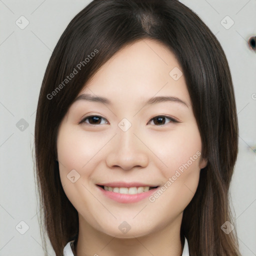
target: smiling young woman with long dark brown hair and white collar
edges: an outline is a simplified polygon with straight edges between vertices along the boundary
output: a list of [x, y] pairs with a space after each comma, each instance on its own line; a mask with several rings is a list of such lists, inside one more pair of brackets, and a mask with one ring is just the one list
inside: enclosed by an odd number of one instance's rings
[[56, 255], [240, 255], [228, 201], [237, 136], [225, 54], [195, 13], [93, 0], [53, 50], [37, 106]]

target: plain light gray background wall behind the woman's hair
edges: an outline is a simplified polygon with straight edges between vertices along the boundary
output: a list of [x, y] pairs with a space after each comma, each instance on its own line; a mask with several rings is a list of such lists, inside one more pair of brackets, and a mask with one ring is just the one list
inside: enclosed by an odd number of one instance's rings
[[[54, 46], [89, 2], [0, 0], [0, 256], [43, 255], [31, 157], [35, 110]], [[256, 35], [256, 0], [181, 2], [209, 26], [229, 62], [239, 121], [231, 198], [242, 255], [256, 255], [256, 55], [247, 45], [248, 37]], [[29, 21], [24, 29], [15, 23], [25, 24], [21, 15]], [[234, 21], [228, 29], [223, 26], [231, 24], [227, 15]], [[28, 127], [20, 126], [21, 118]], [[47, 250], [55, 255], [49, 243]]]

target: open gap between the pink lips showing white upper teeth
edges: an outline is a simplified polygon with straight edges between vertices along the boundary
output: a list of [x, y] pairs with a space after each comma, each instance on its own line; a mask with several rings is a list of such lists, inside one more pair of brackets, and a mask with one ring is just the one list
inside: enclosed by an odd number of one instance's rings
[[117, 187], [117, 186], [105, 186], [97, 185], [104, 189], [105, 191], [111, 191], [120, 194], [139, 194], [147, 192], [151, 189], [157, 188], [159, 186], [132, 186], [132, 187]]

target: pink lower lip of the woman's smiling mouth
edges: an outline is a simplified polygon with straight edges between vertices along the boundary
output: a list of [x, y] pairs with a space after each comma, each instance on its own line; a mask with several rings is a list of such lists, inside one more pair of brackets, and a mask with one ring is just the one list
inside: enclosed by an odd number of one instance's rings
[[100, 187], [97, 185], [99, 190], [107, 197], [121, 203], [132, 203], [132, 202], [138, 202], [146, 197], [149, 197], [151, 193], [156, 191], [158, 187], [152, 188], [146, 192], [138, 193], [138, 194], [121, 194], [121, 193], [116, 193], [113, 191], [107, 191], [104, 188]]

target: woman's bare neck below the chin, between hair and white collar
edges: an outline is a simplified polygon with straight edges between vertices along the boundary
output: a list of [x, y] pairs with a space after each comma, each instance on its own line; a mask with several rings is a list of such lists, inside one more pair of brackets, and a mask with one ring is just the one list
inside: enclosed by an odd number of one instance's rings
[[[79, 215], [79, 214], [78, 214]], [[133, 238], [118, 238], [93, 228], [79, 215], [79, 233], [75, 256], [181, 256], [182, 214], [157, 231]]]

